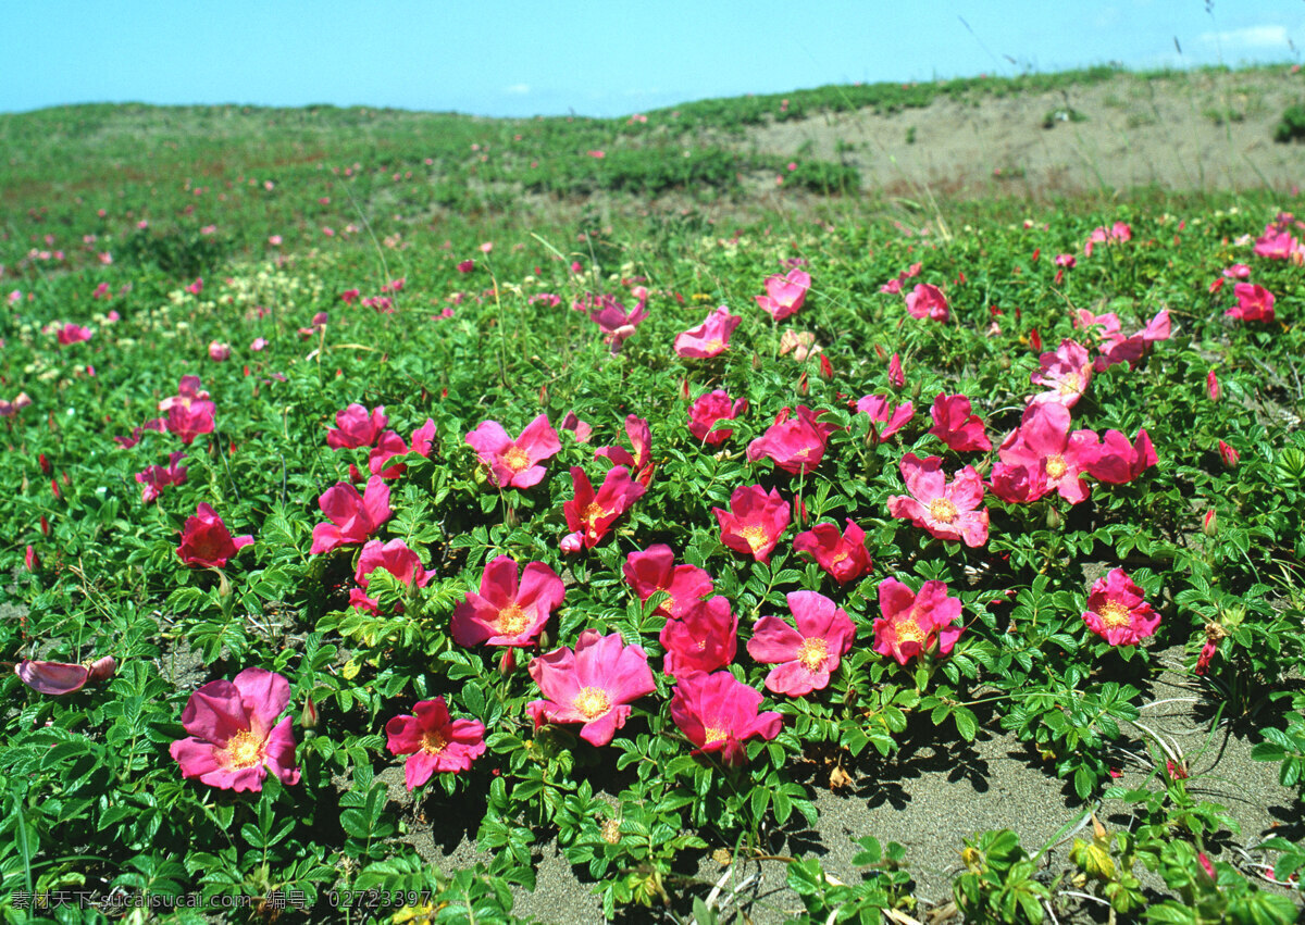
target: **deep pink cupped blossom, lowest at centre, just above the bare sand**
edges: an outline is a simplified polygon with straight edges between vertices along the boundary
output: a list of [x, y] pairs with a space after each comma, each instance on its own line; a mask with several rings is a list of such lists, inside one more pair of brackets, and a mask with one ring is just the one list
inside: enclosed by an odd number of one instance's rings
[[675, 685], [671, 719], [697, 746], [696, 754], [719, 751], [720, 761], [736, 767], [748, 761], [746, 740], [769, 741], [784, 727], [779, 714], [758, 712], [760, 707], [761, 691], [729, 672], [697, 673]]

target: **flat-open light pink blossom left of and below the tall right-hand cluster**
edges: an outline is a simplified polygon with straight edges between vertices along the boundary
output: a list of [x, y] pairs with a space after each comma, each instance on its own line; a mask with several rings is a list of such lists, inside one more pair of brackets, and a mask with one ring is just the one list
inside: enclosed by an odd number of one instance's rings
[[967, 547], [988, 541], [988, 509], [983, 506], [983, 479], [966, 466], [949, 483], [942, 459], [920, 459], [907, 453], [899, 466], [910, 494], [889, 496], [889, 513], [928, 530], [941, 540], [962, 540]]

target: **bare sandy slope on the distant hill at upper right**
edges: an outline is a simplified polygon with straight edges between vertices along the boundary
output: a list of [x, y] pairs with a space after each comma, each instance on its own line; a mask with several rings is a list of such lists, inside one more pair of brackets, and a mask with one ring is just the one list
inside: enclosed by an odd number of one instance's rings
[[[895, 115], [774, 123], [744, 144], [778, 157], [843, 159], [856, 164], [868, 189], [902, 196], [925, 187], [936, 196], [1147, 185], [1287, 192], [1305, 183], [1305, 146], [1274, 144], [1272, 130], [1283, 110], [1301, 99], [1305, 73], [1285, 69], [1152, 81], [1121, 74], [1067, 93], [976, 106], [942, 100]], [[1044, 128], [1048, 116], [1052, 127]]]

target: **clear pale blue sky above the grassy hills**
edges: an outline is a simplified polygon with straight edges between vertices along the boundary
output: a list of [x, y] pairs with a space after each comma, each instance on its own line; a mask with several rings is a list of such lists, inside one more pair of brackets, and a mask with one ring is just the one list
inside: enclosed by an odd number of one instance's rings
[[5, 12], [0, 111], [620, 116], [823, 83], [1300, 61], [1301, 50], [1301, 0], [39, 0]]

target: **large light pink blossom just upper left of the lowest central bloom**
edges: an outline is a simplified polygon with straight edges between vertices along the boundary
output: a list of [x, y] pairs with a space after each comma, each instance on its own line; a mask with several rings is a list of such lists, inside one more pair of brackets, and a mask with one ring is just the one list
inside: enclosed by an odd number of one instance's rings
[[630, 715], [629, 705], [656, 690], [641, 646], [626, 646], [620, 633], [587, 629], [576, 648], [559, 648], [530, 661], [530, 677], [544, 699], [526, 712], [535, 728], [547, 723], [582, 723], [579, 737], [607, 745]]

